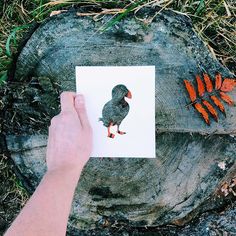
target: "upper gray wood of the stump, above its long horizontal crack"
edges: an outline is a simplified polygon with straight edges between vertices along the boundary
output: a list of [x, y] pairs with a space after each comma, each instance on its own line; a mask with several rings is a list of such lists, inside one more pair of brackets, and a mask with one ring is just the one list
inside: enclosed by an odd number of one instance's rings
[[[75, 89], [76, 65], [155, 65], [158, 130], [235, 133], [236, 107], [226, 106], [227, 118], [220, 114], [222, 122], [213, 121], [210, 127], [194, 109], [186, 108], [184, 79], [194, 81], [202, 71], [212, 78], [217, 72], [232, 76], [211, 57], [189, 19], [168, 12], [148, 26], [129, 18], [108, 32], [96, 33], [102, 24], [75, 14], [52, 18], [36, 30], [22, 51], [17, 79], [32, 74], [52, 77], [63, 89]], [[236, 99], [235, 93], [231, 95]]]

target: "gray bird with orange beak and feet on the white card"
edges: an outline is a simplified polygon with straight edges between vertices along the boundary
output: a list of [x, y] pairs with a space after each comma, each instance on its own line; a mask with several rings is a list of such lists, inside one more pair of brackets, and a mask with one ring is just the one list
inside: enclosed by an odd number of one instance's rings
[[109, 138], [114, 138], [115, 134], [111, 133], [110, 127], [117, 125], [118, 134], [126, 134], [120, 131], [119, 127], [123, 119], [129, 113], [129, 104], [126, 102], [125, 97], [132, 98], [131, 92], [123, 84], [118, 84], [112, 89], [112, 99], [107, 102], [102, 109], [102, 118], [99, 121], [107, 127]]

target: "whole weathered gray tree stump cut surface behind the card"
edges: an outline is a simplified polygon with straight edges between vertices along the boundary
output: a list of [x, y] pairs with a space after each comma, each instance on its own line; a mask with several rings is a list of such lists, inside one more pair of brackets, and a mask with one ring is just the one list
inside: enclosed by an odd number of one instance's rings
[[[221, 206], [221, 186], [236, 174], [236, 108], [225, 105], [227, 117], [220, 114], [218, 123], [207, 126], [186, 106], [183, 84], [202, 72], [213, 80], [216, 72], [233, 75], [211, 56], [186, 16], [172, 11], [155, 16], [157, 10], [141, 9], [103, 33], [99, 29], [109, 16], [99, 21], [75, 11], [53, 16], [17, 59], [11, 83], [17, 87], [7, 95], [6, 141], [31, 190], [46, 171], [47, 126], [59, 111], [58, 95], [75, 90], [75, 66], [156, 66], [156, 158], [91, 158], [76, 189], [70, 232], [114, 222], [183, 225]], [[236, 101], [235, 91], [230, 95]]]

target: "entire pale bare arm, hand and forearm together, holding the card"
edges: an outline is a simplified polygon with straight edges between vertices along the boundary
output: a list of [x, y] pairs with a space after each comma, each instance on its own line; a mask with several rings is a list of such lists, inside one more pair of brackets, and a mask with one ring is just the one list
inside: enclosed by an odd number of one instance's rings
[[5, 236], [65, 235], [74, 191], [91, 150], [84, 97], [63, 92], [61, 112], [49, 127], [47, 172]]

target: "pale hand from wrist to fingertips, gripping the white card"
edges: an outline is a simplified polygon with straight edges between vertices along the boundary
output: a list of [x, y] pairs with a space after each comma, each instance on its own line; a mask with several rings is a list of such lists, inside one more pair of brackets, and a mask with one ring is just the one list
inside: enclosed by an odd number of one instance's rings
[[48, 171], [79, 172], [92, 151], [92, 128], [83, 95], [61, 94], [61, 112], [51, 120], [46, 161]]

